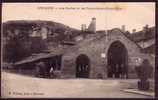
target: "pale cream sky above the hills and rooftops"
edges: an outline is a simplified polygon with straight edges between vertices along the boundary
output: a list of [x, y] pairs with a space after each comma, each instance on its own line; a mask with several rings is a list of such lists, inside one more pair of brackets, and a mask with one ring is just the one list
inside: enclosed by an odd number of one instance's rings
[[[64, 9], [62, 9], [64, 8]], [[114, 8], [121, 8], [119, 10]], [[81, 29], [96, 18], [96, 29], [126, 26], [142, 30], [146, 24], [155, 26], [155, 3], [3, 3], [2, 22], [9, 20], [48, 20]]]

